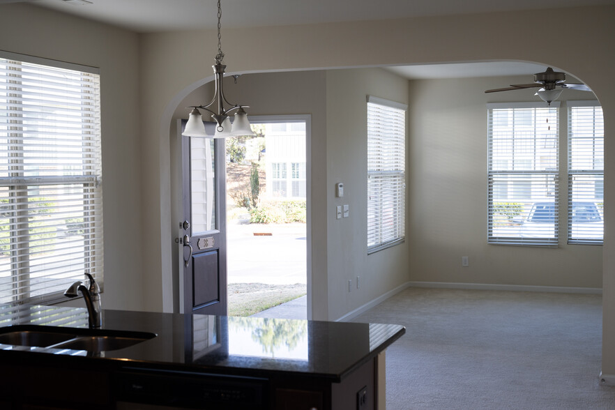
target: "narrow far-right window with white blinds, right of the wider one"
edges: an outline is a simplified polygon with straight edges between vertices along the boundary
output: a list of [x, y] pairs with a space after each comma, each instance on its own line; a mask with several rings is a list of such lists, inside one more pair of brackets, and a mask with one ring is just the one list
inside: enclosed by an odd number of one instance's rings
[[598, 101], [568, 101], [568, 243], [602, 244], [605, 123]]

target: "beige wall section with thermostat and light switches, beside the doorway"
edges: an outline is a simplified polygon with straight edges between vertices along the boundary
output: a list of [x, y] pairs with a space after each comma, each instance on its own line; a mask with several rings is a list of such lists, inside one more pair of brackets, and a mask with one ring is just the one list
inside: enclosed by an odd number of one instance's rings
[[[407, 104], [408, 82], [382, 68], [328, 70], [327, 177], [328, 312], [335, 320], [409, 280], [409, 242], [367, 255], [367, 95]], [[344, 197], [335, 197], [335, 183]], [[335, 207], [349, 205], [349, 218]], [[360, 277], [360, 289], [356, 278]], [[348, 281], [352, 291], [348, 291]], [[317, 303], [317, 301], [314, 301]]]

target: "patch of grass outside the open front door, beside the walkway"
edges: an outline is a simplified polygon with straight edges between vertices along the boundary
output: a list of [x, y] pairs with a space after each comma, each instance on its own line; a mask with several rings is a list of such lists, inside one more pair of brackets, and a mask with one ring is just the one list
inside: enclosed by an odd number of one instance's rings
[[228, 315], [250, 316], [307, 293], [305, 284], [231, 283]]

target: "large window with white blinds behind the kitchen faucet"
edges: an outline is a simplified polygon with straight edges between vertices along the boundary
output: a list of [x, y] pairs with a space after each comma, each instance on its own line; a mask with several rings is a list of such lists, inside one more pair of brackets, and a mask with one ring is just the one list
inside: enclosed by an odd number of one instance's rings
[[98, 69], [0, 53], [0, 303], [102, 285]]

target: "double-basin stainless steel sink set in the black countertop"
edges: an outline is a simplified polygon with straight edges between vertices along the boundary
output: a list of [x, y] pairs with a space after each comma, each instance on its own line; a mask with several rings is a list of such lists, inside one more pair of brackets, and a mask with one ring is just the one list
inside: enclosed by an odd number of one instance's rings
[[0, 344], [93, 352], [124, 349], [156, 337], [155, 333], [106, 329], [17, 325], [0, 328]]

